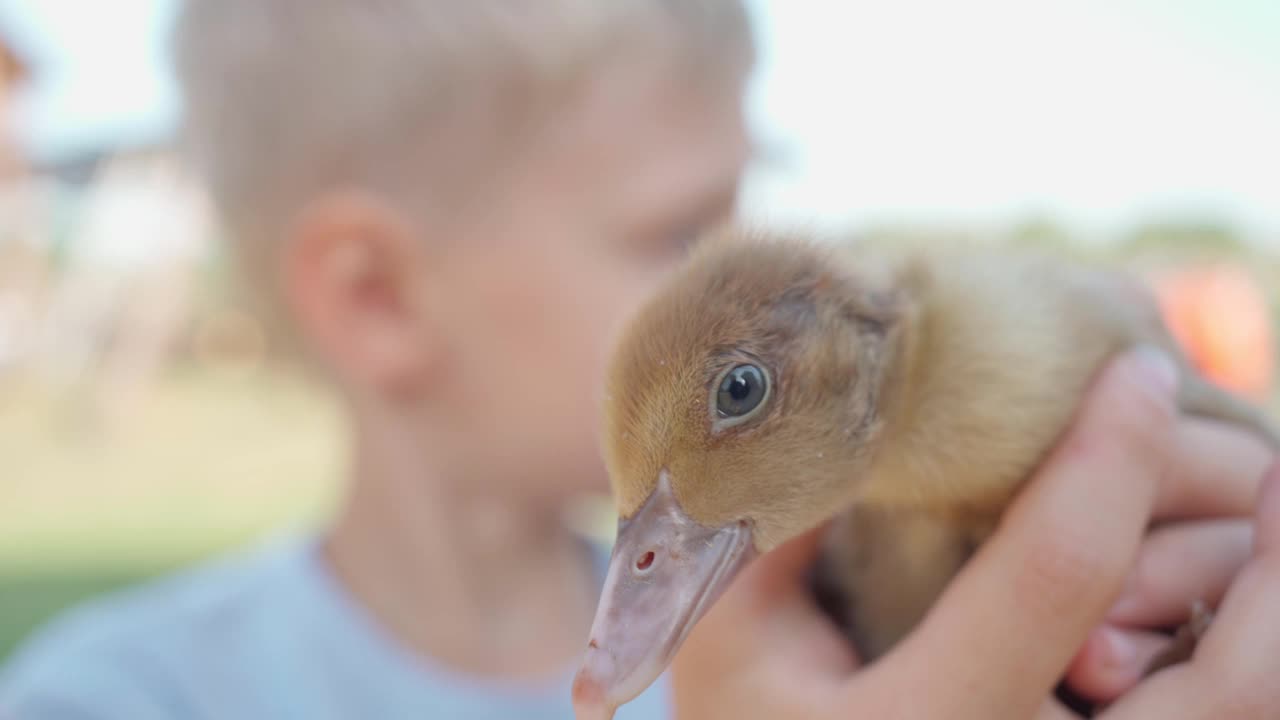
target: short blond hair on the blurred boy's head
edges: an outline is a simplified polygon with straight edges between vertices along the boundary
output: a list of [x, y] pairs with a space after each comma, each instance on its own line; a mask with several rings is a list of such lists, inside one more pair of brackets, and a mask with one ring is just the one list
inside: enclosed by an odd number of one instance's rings
[[174, 38], [193, 159], [250, 252], [332, 187], [449, 211], [628, 49], [703, 77], [753, 56], [740, 0], [186, 0]]

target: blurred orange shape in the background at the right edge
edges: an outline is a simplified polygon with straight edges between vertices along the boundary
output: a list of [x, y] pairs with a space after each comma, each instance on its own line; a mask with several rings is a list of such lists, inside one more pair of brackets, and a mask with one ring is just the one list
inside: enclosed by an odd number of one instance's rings
[[1275, 328], [1267, 297], [1233, 265], [1160, 275], [1156, 296], [1170, 331], [1211, 382], [1251, 400], [1271, 396]]

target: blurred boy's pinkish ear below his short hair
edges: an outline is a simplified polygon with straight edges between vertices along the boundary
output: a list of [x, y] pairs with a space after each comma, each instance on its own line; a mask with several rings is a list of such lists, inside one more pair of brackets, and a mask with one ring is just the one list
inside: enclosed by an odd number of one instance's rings
[[335, 192], [300, 213], [280, 261], [284, 292], [307, 343], [352, 389], [416, 392], [433, 354], [413, 288], [422, 243], [389, 205]]

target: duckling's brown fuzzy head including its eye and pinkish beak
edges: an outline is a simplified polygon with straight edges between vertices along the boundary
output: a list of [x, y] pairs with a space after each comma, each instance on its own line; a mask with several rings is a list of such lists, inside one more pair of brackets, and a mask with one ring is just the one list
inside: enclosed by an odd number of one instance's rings
[[617, 346], [604, 454], [618, 536], [576, 700], [639, 694], [754, 556], [856, 493], [901, 307], [835, 252], [710, 240]]

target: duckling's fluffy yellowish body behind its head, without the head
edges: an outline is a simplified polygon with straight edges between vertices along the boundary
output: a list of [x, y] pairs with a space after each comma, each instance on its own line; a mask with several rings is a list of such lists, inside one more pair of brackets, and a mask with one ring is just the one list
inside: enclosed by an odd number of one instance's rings
[[[884, 261], [855, 247], [835, 259], [850, 268]], [[864, 659], [923, 618], [1116, 352], [1166, 351], [1181, 373], [1183, 411], [1276, 442], [1254, 407], [1189, 368], [1156, 306], [1120, 277], [973, 250], [908, 250], [888, 266], [911, 300], [881, 450], [860, 497], [832, 523], [815, 574], [824, 605]]]

